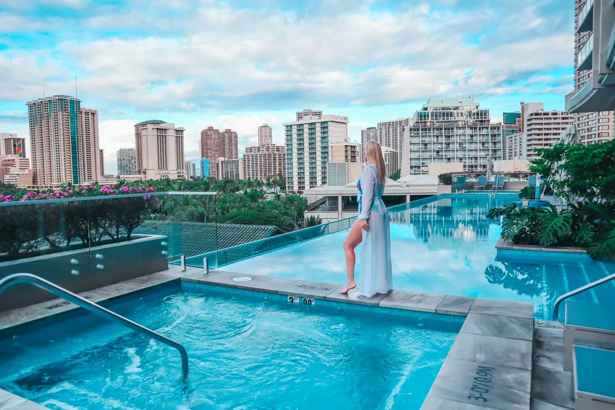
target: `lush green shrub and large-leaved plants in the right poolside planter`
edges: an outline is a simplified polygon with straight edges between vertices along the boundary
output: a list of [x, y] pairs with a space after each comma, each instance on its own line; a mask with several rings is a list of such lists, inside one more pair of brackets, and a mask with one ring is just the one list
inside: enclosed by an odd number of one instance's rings
[[[593, 259], [615, 260], [615, 141], [539, 149], [530, 170], [539, 173], [565, 207], [493, 208], [487, 218], [502, 219], [502, 237], [514, 243], [586, 248]], [[587, 164], [592, 164], [588, 166]], [[533, 187], [520, 192], [533, 197]], [[580, 198], [580, 199], [577, 199]]]

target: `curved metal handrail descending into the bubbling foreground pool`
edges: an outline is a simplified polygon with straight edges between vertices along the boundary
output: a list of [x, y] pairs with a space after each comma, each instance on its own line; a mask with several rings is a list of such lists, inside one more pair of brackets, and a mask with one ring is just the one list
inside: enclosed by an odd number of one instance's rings
[[74, 294], [71, 291], [68, 291], [58, 285], [55, 285], [55, 283], [51, 283], [36, 275], [13, 274], [2, 278], [2, 280], [0, 280], [0, 293], [2, 293], [2, 291], [9, 286], [15, 285], [17, 283], [31, 283], [34, 286], [38, 286], [41, 289], [55, 294], [55, 296], [59, 296], [60, 298], [66, 299], [69, 302], [73, 302], [77, 306], [81, 306], [92, 313], [96, 313], [97, 315], [101, 315], [102, 317], [108, 318], [111, 321], [115, 321], [117, 323], [120, 323], [121, 325], [127, 326], [130, 329], [143, 333], [146, 336], [151, 337], [152, 339], [156, 339], [159, 342], [169, 345], [170, 347], [175, 347], [175, 349], [177, 349], [181, 355], [181, 368], [183, 370], [183, 376], [188, 376], [188, 353], [186, 352], [186, 349], [183, 347], [183, 345], [179, 344], [178, 342], [173, 341], [168, 337], [162, 336], [162, 334], [156, 333], [152, 329], [148, 329], [145, 326], [141, 326], [138, 323], [133, 322], [132, 320], [118, 315], [117, 313], [111, 312], [111, 310], [105, 309], [104, 307], [95, 304], [94, 302], [90, 302], [89, 300], [82, 298], [78, 294]]

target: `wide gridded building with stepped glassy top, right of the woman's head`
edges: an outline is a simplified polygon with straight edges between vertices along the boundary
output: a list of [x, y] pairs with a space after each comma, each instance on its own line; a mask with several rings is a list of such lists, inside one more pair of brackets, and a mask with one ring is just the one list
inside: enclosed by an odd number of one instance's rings
[[401, 174], [427, 172], [432, 162], [462, 162], [464, 171], [486, 170], [487, 157], [502, 159], [502, 124], [474, 97], [429, 98], [405, 128]]

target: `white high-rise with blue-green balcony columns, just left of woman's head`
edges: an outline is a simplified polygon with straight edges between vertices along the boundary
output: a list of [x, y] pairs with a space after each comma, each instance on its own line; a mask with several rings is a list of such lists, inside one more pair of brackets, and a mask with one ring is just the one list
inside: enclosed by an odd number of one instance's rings
[[303, 192], [327, 184], [329, 147], [348, 141], [348, 117], [303, 110], [297, 112], [297, 118], [284, 124], [286, 184], [288, 191]]

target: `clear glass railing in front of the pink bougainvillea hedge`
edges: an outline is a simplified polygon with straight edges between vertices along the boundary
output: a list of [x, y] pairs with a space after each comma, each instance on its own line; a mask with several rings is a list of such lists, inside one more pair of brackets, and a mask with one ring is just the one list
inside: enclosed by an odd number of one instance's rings
[[[79, 292], [168, 269], [182, 254], [218, 249], [215, 192], [140, 190], [75, 198], [92, 192], [69, 187], [47, 195], [57, 199], [32, 193], [1, 202], [0, 278], [25, 272]], [[2, 293], [0, 311], [48, 298], [15, 286]]]

